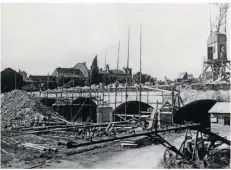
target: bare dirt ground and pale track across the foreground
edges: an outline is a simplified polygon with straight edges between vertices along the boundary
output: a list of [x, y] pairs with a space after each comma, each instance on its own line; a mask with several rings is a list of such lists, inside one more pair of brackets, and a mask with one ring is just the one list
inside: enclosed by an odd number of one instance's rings
[[[230, 139], [230, 127], [212, 125], [212, 131]], [[163, 163], [165, 147], [149, 145], [141, 148], [123, 148], [120, 142], [109, 142], [81, 148], [57, 145], [60, 136], [23, 135], [1, 139], [1, 168], [166, 168]], [[184, 134], [166, 134], [176, 147], [180, 147]], [[31, 142], [57, 148], [58, 152], [40, 152], [19, 143]], [[224, 146], [227, 147], [227, 146]]]

